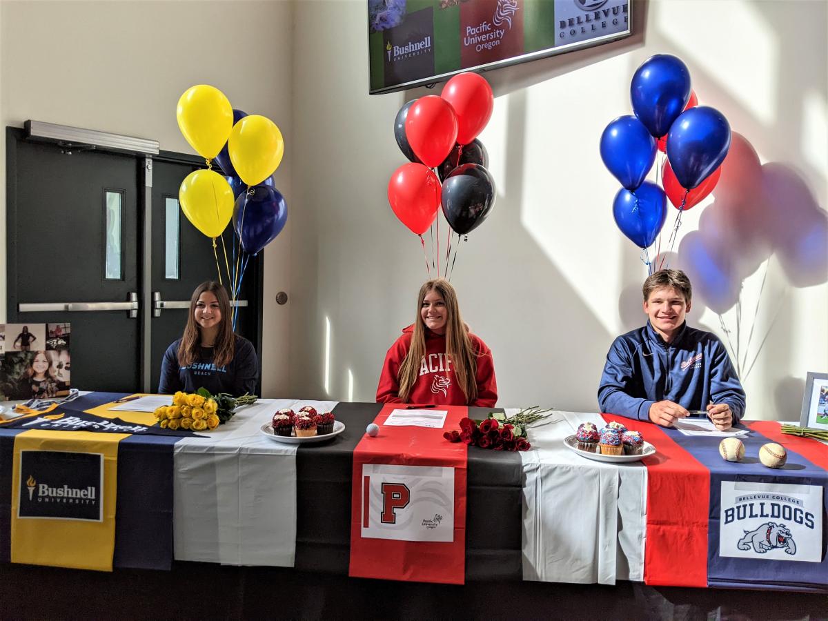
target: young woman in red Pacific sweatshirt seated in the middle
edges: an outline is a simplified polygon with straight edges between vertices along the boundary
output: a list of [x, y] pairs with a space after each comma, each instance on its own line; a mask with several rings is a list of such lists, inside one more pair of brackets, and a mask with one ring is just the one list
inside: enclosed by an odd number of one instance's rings
[[388, 349], [377, 401], [493, 407], [498, 401], [492, 352], [469, 332], [449, 282], [426, 282], [417, 318]]

